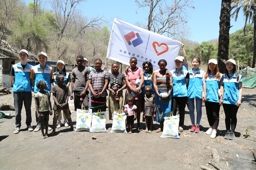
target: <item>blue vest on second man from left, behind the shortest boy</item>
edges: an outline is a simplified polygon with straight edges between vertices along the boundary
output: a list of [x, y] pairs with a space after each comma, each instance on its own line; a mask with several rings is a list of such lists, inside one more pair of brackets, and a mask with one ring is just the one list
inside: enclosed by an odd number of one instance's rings
[[45, 69], [43, 70], [40, 64], [38, 64], [37, 66], [33, 67], [33, 71], [35, 74], [34, 92], [37, 93], [38, 91], [40, 91], [40, 89], [37, 88], [37, 82], [39, 82], [40, 80], [43, 80], [46, 82], [46, 85], [47, 85], [46, 91], [50, 92], [52, 89], [51, 82], [50, 82], [50, 74], [52, 72], [52, 67], [49, 67], [46, 64]]

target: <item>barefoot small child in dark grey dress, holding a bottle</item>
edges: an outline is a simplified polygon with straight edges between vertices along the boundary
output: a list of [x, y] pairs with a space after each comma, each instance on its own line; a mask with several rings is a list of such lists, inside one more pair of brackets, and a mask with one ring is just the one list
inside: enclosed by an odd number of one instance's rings
[[[146, 132], [151, 133], [152, 132], [152, 126], [153, 126], [153, 114], [156, 111], [155, 107], [155, 97], [152, 95], [152, 87], [151, 86], [146, 86], [145, 87], [145, 96], [144, 96], [144, 102], [145, 102], [145, 107], [143, 113], [146, 116]], [[150, 119], [150, 129], [148, 131], [148, 117]]]

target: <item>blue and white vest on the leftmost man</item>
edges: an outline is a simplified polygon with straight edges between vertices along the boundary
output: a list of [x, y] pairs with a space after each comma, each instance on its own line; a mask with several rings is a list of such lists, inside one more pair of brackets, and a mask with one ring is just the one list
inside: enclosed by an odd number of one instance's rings
[[23, 70], [19, 62], [12, 65], [12, 68], [14, 69], [15, 74], [12, 91], [32, 91], [32, 85], [29, 78], [32, 66], [27, 63], [25, 69]]

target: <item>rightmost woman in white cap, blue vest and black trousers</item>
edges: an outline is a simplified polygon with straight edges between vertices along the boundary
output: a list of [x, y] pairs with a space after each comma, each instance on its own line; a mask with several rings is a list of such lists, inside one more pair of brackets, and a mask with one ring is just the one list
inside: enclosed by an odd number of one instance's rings
[[224, 91], [223, 109], [226, 116], [225, 124], [227, 132], [225, 139], [233, 140], [235, 138], [234, 131], [237, 125], [237, 111], [241, 105], [242, 99], [242, 76], [236, 71], [235, 60], [229, 59], [225, 64], [226, 74], [223, 76], [223, 86], [221, 87], [222, 95]]

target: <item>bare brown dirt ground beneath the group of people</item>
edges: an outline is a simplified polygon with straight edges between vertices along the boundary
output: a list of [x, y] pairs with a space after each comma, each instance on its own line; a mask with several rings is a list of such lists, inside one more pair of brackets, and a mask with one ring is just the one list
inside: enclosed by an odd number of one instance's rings
[[[133, 134], [74, 132], [62, 126], [57, 135], [40, 139], [41, 131], [26, 130], [25, 108], [22, 110], [22, 126], [19, 134], [14, 134], [15, 117], [0, 119], [0, 169], [180, 169], [199, 170], [208, 166], [212, 159], [211, 149], [216, 149], [219, 163], [226, 170], [255, 170], [256, 163], [252, 151], [256, 152], [256, 89], [243, 88], [242, 104], [237, 114], [236, 138], [224, 139], [225, 114], [222, 106], [216, 139], [205, 134], [208, 129], [206, 109], [203, 104], [200, 133], [191, 133], [191, 120], [186, 107], [184, 131], [180, 139], [160, 138], [162, 133], [145, 133], [135, 128]], [[13, 95], [0, 96], [1, 102], [13, 104]], [[51, 100], [53, 104], [53, 99]], [[74, 100], [69, 100], [70, 110], [74, 110]], [[32, 123], [35, 122], [35, 104], [32, 99]], [[108, 110], [107, 110], [108, 111]], [[14, 111], [3, 111], [15, 116]], [[50, 116], [49, 124], [52, 127]], [[76, 112], [71, 115], [76, 124]], [[62, 121], [63, 122], [63, 121]], [[141, 118], [142, 122], [142, 118]], [[142, 123], [145, 129], [145, 124]], [[112, 121], [107, 114], [106, 128], [110, 130]], [[154, 122], [154, 130], [160, 127]], [[255, 141], [244, 139], [243, 132], [249, 129]], [[50, 131], [49, 131], [50, 133]], [[92, 137], [97, 137], [96, 142]], [[224, 160], [226, 159], [226, 161]], [[227, 166], [228, 165], [228, 166]], [[214, 169], [214, 168], [212, 168]]]

